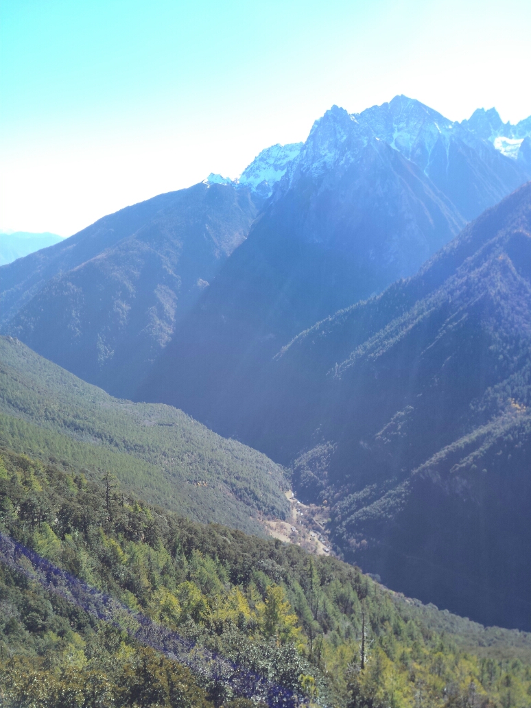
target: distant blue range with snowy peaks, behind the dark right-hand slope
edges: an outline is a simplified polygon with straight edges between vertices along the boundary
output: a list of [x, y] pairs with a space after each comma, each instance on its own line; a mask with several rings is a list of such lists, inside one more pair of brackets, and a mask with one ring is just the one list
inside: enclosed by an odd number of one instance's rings
[[452, 123], [404, 96], [355, 115], [334, 106], [239, 180], [210, 175], [0, 270], [2, 331], [130, 398], [173, 339], [167, 358], [190, 366], [172, 402], [236, 433], [224, 382], [413, 275], [530, 178], [529, 133], [529, 120]]

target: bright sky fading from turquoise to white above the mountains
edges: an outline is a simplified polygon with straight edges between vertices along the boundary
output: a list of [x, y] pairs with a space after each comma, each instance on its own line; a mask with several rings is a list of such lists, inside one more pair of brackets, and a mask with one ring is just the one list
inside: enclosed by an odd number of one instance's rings
[[333, 103], [531, 114], [530, 0], [0, 0], [0, 229], [237, 176]]

